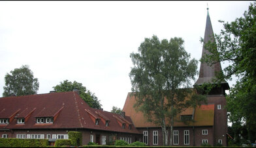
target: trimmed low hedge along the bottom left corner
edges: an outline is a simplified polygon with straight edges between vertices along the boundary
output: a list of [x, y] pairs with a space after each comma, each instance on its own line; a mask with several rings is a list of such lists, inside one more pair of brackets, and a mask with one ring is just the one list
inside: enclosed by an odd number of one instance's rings
[[47, 147], [48, 140], [0, 138], [0, 147]]

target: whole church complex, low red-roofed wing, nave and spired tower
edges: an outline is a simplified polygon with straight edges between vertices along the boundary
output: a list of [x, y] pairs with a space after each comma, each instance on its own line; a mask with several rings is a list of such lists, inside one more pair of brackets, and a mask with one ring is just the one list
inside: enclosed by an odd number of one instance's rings
[[[207, 14], [204, 42], [212, 41], [214, 34]], [[202, 56], [209, 54], [202, 47]], [[195, 85], [212, 82], [221, 64], [200, 64], [199, 79]], [[227, 82], [221, 82], [207, 95], [208, 104], [195, 109], [188, 108], [179, 116], [193, 119], [193, 123], [174, 122], [173, 143], [177, 146], [227, 145], [227, 110], [225, 90]], [[112, 145], [115, 140], [127, 143], [136, 141], [146, 145], [163, 145], [159, 125], [148, 123], [142, 112], [136, 112], [135, 97], [128, 93], [123, 114], [90, 108], [79, 96], [79, 91], [50, 92], [36, 95], [0, 98], [0, 137], [29, 139], [68, 139], [69, 131], [82, 132], [82, 145], [89, 142]], [[169, 137], [169, 136], [168, 136]]]

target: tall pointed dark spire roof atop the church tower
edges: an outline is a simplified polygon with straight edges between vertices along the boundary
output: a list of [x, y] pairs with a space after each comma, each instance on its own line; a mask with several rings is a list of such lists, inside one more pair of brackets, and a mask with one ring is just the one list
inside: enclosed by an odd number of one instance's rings
[[[211, 54], [208, 50], [204, 49], [204, 45], [207, 42], [215, 42], [214, 40], [214, 31], [212, 29], [212, 23], [209, 16], [208, 8], [207, 8], [207, 18], [206, 18], [206, 27], [204, 32], [204, 44], [202, 46], [202, 56]], [[199, 71], [199, 79], [197, 79], [197, 82], [195, 84], [201, 85], [204, 82], [212, 83], [212, 79], [216, 78], [216, 72], [222, 71], [221, 69], [221, 63], [216, 62], [212, 66], [210, 64], [206, 64], [206, 62], [201, 62], [200, 64], [200, 71]], [[222, 84], [225, 84], [225, 88], [229, 88], [229, 84], [227, 82], [221, 82]]]

